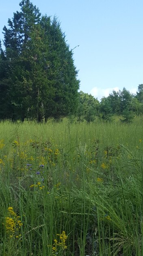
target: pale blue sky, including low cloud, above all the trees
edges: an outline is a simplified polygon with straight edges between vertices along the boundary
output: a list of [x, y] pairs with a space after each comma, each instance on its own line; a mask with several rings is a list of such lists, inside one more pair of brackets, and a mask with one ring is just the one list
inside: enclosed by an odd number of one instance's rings
[[[80, 90], [100, 100], [143, 83], [143, 0], [31, 0], [42, 15], [55, 15], [74, 52]], [[20, 0], [0, 3], [0, 39]], [[79, 46], [78, 46], [79, 45]], [[76, 47], [77, 46], [77, 47]], [[76, 47], [74, 49], [74, 47]]]

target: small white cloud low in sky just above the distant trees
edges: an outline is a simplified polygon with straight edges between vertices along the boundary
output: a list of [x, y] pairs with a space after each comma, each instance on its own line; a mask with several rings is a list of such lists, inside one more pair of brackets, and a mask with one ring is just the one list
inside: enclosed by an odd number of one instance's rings
[[106, 88], [106, 89], [101, 89], [98, 87], [93, 87], [90, 91], [90, 94], [93, 95], [95, 98], [98, 98], [100, 100], [102, 97], [108, 97], [110, 93], [114, 91], [118, 92], [119, 88], [114, 87], [114, 88]]

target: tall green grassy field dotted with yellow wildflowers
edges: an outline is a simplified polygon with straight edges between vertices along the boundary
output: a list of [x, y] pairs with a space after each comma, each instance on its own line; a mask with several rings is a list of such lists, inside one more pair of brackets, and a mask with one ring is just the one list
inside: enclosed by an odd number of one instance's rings
[[143, 117], [0, 123], [0, 255], [143, 256]]

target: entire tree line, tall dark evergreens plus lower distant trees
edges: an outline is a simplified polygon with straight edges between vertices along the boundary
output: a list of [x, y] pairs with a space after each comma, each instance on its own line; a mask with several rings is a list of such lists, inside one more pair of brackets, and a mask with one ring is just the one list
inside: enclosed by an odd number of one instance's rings
[[132, 114], [143, 113], [143, 84], [135, 95], [124, 88], [100, 102], [78, 92], [78, 70], [60, 23], [56, 17], [42, 16], [30, 0], [20, 2], [20, 11], [13, 13], [3, 34], [0, 120], [46, 122], [49, 117], [74, 115], [79, 122], [91, 122], [116, 114], [130, 121]]

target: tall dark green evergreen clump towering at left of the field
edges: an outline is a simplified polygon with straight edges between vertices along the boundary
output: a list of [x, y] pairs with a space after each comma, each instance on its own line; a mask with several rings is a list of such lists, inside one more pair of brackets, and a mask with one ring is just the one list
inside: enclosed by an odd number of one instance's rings
[[78, 104], [78, 72], [60, 23], [55, 17], [41, 17], [29, 0], [22, 0], [20, 7], [12, 21], [8, 20], [9, 29], [3, 29], [0, 118], [6, 114], [2, 108], [6, 95], [9, 114], [5, 117], [12, 120], [24, 121], [27, 117], [39, 122], [74, 113]]

